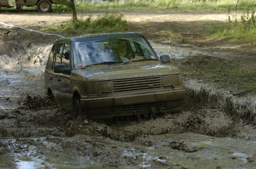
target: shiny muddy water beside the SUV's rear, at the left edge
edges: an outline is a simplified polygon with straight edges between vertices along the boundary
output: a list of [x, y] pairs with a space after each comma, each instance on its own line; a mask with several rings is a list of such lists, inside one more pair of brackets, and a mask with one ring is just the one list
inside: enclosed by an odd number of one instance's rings
[[[43, 72], [37, 68], [0, 69], [0, 110], [14, 109], [27, 94], [44, 95]], [[41, 88], [41, 90], [38, 90]]]

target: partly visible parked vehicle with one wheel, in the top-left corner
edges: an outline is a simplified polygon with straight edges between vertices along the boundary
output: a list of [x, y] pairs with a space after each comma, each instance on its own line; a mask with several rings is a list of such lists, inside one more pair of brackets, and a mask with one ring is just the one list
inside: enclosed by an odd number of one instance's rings
[[31, 7], [37, 6], [40, 12], [51, 12], [51, 4], [54, 0], [0, 0], [0, 12], [1, 7], [16, 7], [20, 8], [23, 6]]

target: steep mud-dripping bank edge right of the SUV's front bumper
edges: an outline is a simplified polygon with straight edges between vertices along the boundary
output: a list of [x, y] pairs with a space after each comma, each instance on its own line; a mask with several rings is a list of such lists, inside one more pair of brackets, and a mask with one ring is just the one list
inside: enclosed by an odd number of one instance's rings
[[196, 80], [186, 80], [186, 107], [221, 108], [236, 120], [242, 119], [245, 124], [256, 125], [256, 98], [238, 97], [229, 91], [214, 89]]

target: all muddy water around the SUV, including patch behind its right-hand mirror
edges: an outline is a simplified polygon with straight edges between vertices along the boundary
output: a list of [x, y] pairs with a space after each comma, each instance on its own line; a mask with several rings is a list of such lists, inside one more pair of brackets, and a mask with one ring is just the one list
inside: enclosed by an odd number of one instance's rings
[[[153, 47], [180, 59], [202, 54]], [[0, 69], [0, 168], [256, 168], [255, 129], [218, 107], [110, 123], [73, 117], [47, 98], [26, 106], [27, 94], [44, 94], [47, 58], [33, 56], [37, 66]]]

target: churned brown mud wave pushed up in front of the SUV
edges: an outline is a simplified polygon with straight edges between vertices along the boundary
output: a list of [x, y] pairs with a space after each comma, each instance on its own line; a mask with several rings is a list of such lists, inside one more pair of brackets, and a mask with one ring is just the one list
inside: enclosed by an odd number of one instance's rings
[[[192, 132], [215, 137], [235, 137], [237, 122], [221, 109], [199, 109], [175, 114], [162, 114], [156, 120], [109, 123], [76, 117], [58, 110], [47, 97], [27, 96], [17, 110], [5, 110], [0, 120], [2, 137], [40, 137], [46, 135], [72, 136], [76, 134], [101, 135], [117, 141], [133, 142], [140, 135]], [[161, 125], [159, 125], [161, 124]], [[37, 131], [34, 131], [34, 129]]]

